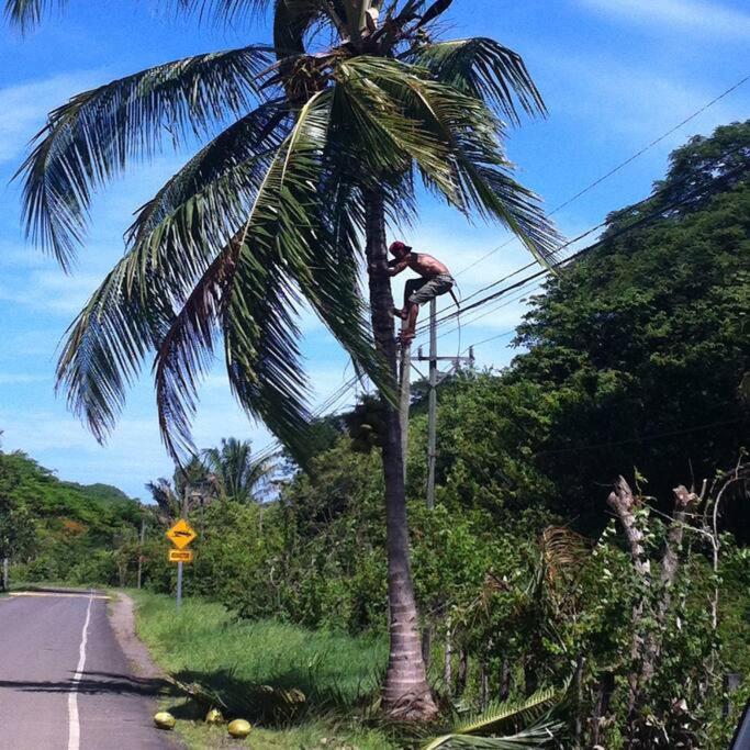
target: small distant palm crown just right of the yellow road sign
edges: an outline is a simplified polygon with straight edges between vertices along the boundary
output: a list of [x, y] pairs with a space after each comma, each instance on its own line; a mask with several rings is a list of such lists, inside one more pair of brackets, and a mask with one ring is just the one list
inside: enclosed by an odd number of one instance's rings
[[272, 461], [253, 457], [249, 440], [236, 437], [222, 438], [221, 446], [206, 448], [201, 456], [221, 493], [240, 503], [255, 502], [258, 485], [276, 471]]

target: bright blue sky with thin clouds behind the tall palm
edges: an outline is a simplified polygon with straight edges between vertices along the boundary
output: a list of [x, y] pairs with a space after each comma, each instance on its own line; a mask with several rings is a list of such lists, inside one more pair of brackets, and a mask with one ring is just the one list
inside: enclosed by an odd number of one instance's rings
[[[20, 191], [9, 180], [46, 113], [71, 94], [150, 65], [267, 38], [262, 24], [216, 32], [157, 12], [157, 0], [70, 0], [26, 37], [0, 29], [0, 429], [4, 450], [22, 449], [64, 479], [109, 482], [144, 496], [149, 479], [171, 473], [156, 425], [148, 371], [133, 389], [117, 430], [100, 447], [54, 394], [56, 348], [67, 325], [123, 249], [132, 213], [183, 161], [170, 153], [133, 169], [99, 194], [91, 232], [71, 276], [23, 239]], [[446, 36], [493, 36], [519, 52], [549, 108], [508, 141], [519, 179], [550, 209], [638, 152], [750, 72], [750, 10], [740, 0], [456, 0]], [[607, 212], [646, 195], [667, 156], [687, 136], [750, 116], [750, 82], [669, 136], [596, 189], [556, 214], [567, 236]], [[425, 200], [405, 237], [445, 260], [463, 296], [527, 261], [511, 243], [485, 261], [461, 269], [505, 243], [502, 227], [470, 225]], [[400, 293], [400, 277], [395, 291]], [[528, 291], [528, 290], [527, 290]], [[522, 299], [463, 321], [440, 339], [441, 354], [511, 331]], [[485, 313], [486, 310], [482, 311]], [[318, 322], [303, 320], [304, 352], [322, 401], [347, 379], [346, 358]], [[510, 336], [477, 348], [480, 363], [513, 356]], [[339, 402], [345, 405], [354, 393]], [[201, 447], [234, 435], [260, 447], [262, 426], [250, 424], [228, 394], [220, 369], [202, 391], [195, 422]]]

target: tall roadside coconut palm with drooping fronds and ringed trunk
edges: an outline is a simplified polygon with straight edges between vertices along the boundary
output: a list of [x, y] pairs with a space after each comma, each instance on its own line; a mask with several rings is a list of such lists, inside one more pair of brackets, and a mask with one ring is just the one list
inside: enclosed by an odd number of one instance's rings
[[[5, 0], [22, 27], [65, 0]], [[52, 112], [20, 172], [31, 238], [68, 268], [91, 193], [164, 144], [204, 145], [137, 213], [126, 254], [74, 322], [58, 365], [68, 403], [101, 440], [155, 352], [165, 444], [194, 451], [198, 384], [220, 338], [248, 414], [304, 460], [306, 302], [387, 402], [382, 464], [391, 657], [387, 712], [436, 713], [421, 656], [394, 408], [387, 225], [416, 186], [510, 227], [540, 259], [556, 236], [503, 149], [518, 110], [544, 112], [520, 57], [490, 38], [434, 41], [451, 0], [171, 0], [238, 27], [272, 8], [273, 43], [159, 65]], [[223, 130], [222, 130], [223, 128]], [[358, 284], [362, 259], [369, 313]], [[374, 344], [374, 345], [373, 345]]]

